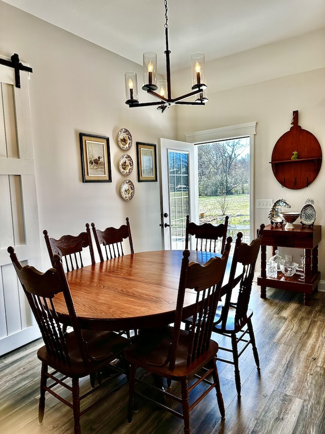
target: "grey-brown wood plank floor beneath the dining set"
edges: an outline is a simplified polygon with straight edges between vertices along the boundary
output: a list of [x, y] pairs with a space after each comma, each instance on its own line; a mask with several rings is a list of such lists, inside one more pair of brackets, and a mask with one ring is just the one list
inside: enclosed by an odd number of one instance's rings
[[[303, 305], [301, 294], [267, 290], [259, 298], [254, 284], [250, 307], [261, 362], [251, 349], [240, 357], [242, 397], [237, 398], [233, 366], [218, 362], [225, 420], [215, 393], [191, 412], [191, 432], [204, 434], [325, 433], [325, 293]], [[214, 339], [220, 341], [218, 335]], [[0, 426], [3, 434], [73, 432], [72, 410], [47, 394], [43, 425], [38, 424], [42, 341], [0, 358]], [[89, 381], [85, 379], [84, 386]], [[176, 387], [176, 386], [173, 386]], [[126, 422], [127, 386], [81, 417], [83, 434], [183, 432], [183, 421], [139, 399], [139, 412]]]

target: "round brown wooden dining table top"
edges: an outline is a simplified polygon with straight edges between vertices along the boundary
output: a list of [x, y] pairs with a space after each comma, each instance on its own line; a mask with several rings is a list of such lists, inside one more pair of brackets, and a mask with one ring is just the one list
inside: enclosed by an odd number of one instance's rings
[[[189, 261], [205, 264], [216, 253], [190, 251]], [[80, 326], [95, 330], [160, 327], [174, 322], [182, 250], [133, 253], [69, 271]], [[194, 290], [186, 290], [183, 315], [191, 314]], [[60, 321], [69, 324], [62, 294], [55, 297]]]

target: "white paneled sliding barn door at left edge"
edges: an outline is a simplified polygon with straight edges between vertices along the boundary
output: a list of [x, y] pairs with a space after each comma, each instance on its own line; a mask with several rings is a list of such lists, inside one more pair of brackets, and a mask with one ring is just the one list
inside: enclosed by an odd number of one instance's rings
[[41, 268], [27, 72], [20, 85], [0, 65], [0, 355], [40, 336], [7, 251], [14, 246], [20, 262]]

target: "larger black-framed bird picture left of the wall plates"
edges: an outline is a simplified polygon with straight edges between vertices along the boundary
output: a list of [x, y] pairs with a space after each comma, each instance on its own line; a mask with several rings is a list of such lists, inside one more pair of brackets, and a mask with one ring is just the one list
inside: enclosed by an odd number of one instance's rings
[[79, 133], [83, 182], [112, 182], [108, 137]]

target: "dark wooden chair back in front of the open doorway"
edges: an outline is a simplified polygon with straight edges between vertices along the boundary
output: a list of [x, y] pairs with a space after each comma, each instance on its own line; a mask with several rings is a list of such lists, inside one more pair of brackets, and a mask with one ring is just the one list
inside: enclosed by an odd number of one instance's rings
[[223, 253], [226, 243], [229, 216], [225, 216], [224, 223], [217, 226], [211, 223], [196, 224], [186, 216], [185, 249], [188, 249], [189, 237], [194, 237], [195, 249], [214, 253]]

